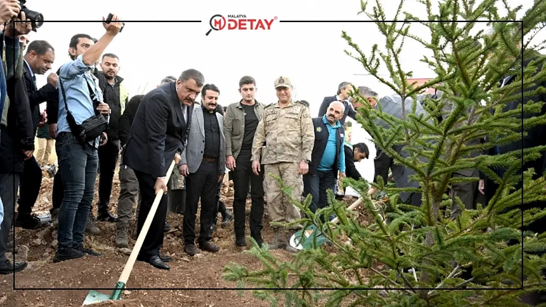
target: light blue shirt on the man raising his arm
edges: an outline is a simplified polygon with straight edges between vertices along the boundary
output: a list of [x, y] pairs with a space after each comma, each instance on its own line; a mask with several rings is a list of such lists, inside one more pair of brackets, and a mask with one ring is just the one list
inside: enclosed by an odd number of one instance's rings
[[[98, 80], [90, 74], [93, 65], [86, 65], [83, 62], [83, 56], [78, 56], [74, 61], [62, 65], [60, 69], [59, 81], [62, 80], [64, 92], [67, 97], [68, 110], [72, 113], [76, 124], [81, 124], [87, 118], [95, 115], [95, 106], [91, 100], [87, 82], [94, 89], [94, 94], [99, 101], [103, 101], [103, 93], [98, 87]], [[61, 91], [60, 82], [57, 83], [59, 88], [59, 117], [57, 121], [57, 131], [71, 132], [67, 122], [67, 112], [64, 107], [64, 99]], [[89, 142], [91, 146], [98, 148], [99, 137], [96, 140]]]

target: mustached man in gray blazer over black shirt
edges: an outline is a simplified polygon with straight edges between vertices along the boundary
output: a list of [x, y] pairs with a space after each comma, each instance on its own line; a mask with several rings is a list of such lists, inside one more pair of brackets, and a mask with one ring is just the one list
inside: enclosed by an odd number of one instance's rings
[[186, 177], [186, 209], [182, 234], [184, 251], [194, 256], [195, 214], [201, 200], [199, 249], [217, 252], [219, 246], [210, 242], [211, 224], [218, 213], [216, 191], [225, 173], [224, 118], [216, 111], [220, 90], [207, 84], [201, 90], [203, 104], [195, 107], [189, 127], [188, 145], [181, 155], [180, 173]]

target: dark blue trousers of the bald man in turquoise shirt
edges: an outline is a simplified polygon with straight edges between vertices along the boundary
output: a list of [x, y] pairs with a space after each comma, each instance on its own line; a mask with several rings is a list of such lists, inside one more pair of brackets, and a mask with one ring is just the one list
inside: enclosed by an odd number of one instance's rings
[[[332, 190], [335, 192], [336, 176], [334, 171], [319, 171], [304, 175], [304, 196], [311, 194], [313, 197], [309, 209], [315, 213], [318, 209], [328, 207], [328, 192]], [[324, 216], [321, 216], [321, 220], [324, 221]]]

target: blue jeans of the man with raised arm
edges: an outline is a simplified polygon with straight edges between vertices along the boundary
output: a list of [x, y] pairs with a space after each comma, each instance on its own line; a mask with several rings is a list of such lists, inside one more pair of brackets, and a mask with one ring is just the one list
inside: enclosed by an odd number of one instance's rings
[[64, 197], [58, 215], [57, 249], [78, 248], [84, 244], [87, 218], [93, 202], [97, 178], [97, 148], [82, 146], [72, 133], [56, 139]]

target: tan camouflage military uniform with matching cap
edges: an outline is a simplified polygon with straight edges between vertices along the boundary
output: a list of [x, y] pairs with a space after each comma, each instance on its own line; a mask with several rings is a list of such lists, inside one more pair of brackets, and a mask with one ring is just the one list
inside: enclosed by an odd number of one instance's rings
[[[275, 81], [277, 86], [291, 85], [287, 77], [280, 77]], [[260, 161], [264, 167], [264, 192], [271, 221], [293, 222], [300, 219], [299, 208], [290, 203], [277, 179], [271, 175], [280, 177], [286, 186], [292, 186], [292, 198], [300, 201], [303, 179], [298, 173], [298, 166], [301, 161], [311, 160], [313, 144], [313, 122], [305, 104], [290, 100], [286, 107], [280, 107], [277, 102], [264, 108], [254, 135], [252, 161]], [[278, 227], [274, 227], [274, 233], [270, 248], [286, 246], [290, 233]]]

